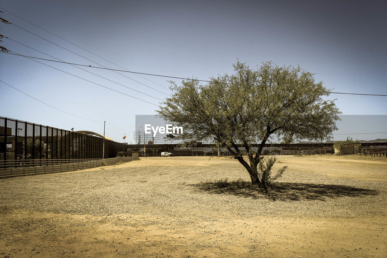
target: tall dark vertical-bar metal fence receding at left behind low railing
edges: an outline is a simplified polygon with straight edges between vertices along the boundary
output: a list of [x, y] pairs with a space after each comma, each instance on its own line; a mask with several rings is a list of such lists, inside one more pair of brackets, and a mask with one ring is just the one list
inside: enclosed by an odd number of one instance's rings
[[127, 144], [0, 117], [0, 165], [6, 160], [19, 159], [27, 161], [113, 158], [119, 151], [127, 151]]

